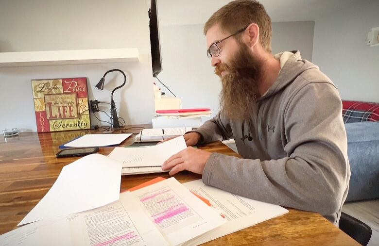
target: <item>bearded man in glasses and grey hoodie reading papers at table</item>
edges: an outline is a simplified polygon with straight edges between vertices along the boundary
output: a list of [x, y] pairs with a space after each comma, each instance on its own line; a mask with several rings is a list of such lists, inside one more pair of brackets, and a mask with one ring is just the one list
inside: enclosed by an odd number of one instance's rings
[[184, 138], [187, 146], [234, 138], [243, 159], [189, 147], [162, 169], [199, 173], [207, 185], [338, 224], [350, 167], [333, 82], [299, 51], [271, 54], [271, 19], [257, 1], [225, 5], [204, 33], [221, 111]]

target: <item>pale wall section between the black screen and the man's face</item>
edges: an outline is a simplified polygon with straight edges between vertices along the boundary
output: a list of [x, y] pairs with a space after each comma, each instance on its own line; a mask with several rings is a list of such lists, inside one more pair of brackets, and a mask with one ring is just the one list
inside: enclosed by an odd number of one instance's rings
[[203, 25], [161, 26], [159, 31], [163, 66], [159, 80], [182, 99], [183, 108], [209, 107], [215, 115], [221, 83], [207, 57]]

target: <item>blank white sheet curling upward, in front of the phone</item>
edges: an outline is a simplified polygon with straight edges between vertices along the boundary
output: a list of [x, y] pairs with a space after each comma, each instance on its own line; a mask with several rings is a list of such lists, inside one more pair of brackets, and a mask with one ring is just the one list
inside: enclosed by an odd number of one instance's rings
[[52, 188], [18, 225], [103, 206], [119, 199], [120, 185], [121, 163], [87, 155], [62, 168]]

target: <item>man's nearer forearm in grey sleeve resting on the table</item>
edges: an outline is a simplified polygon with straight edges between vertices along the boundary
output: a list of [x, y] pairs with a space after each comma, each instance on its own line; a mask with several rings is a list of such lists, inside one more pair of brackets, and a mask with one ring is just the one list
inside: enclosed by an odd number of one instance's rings
[[203, 182], [243, 197], [328, 215], [340, 208], [347, 178], [344, 156], [329, 153], [327, 160], [310, 154], [263, 162], [213, 153]]

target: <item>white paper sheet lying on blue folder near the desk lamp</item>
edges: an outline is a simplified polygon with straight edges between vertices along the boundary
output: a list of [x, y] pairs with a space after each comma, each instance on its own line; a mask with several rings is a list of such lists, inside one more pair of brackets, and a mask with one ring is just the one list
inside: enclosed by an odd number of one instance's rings
[[104, 147], [119, 145], [127, 139], [131, 133], [119, 134], [86, 134], [64, 145], [64, 147]]

